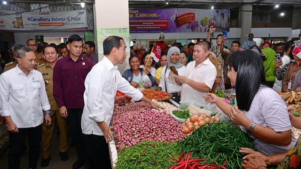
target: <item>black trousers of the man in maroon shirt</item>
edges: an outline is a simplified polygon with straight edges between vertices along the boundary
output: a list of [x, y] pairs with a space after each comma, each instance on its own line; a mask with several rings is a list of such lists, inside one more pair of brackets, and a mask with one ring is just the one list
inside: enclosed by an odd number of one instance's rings
[[80, 160], [88, 162], [86, 155], [86, 143], [84, 140], [84, 134], [81, 129], [81, 116], [83, 114], [83, 108], [68, 108], [68, 116], [66, 118], [67, 124], [70, 128], [70, 133], [75, 144], [77, 155]]

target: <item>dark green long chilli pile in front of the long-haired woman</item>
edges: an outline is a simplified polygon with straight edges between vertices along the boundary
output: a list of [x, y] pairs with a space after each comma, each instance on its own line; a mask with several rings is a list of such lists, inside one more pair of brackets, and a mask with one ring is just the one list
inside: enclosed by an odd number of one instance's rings
[[185, 140], [179, 142], [181, 149], [192, 152], [193, 158], [208, 158], [207, 163], [222, 165], [226, 168], [241, 168], [245, 154], [238, 150], [241, 147], [254, 149], [248, 137], [232, 123], [208, 123], [196, 129]]

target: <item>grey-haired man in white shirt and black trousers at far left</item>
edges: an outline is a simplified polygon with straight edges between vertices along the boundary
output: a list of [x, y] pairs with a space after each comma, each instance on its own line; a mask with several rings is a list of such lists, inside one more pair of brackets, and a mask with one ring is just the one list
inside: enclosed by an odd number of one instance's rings
[[9, 168], [20, 168], [25, 134], [29, 142], [29, 168], [36, 168], [40, 154], [43, 110], [45, 122], [51, 124], [48, 101], [42, 73], [35, 70], [36, 55], [22, 47], [18, 64], [0, 76], [0, 109], [10, 132]]

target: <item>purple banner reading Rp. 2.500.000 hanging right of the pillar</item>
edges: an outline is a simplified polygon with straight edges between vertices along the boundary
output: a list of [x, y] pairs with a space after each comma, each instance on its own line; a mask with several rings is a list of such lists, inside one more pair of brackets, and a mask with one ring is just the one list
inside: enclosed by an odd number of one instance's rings
[[229, 9], [129, 9], [130, 33], [229, 31], [229, 22]]

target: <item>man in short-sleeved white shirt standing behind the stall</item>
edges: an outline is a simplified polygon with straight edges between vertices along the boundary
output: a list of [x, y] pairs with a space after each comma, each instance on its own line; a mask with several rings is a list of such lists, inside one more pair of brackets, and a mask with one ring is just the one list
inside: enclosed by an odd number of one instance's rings
[[193, 49], [194, 61], [187, 64], [184, 76], [176, 78], [176, 82], [182, 85], [181, 102], [202, 105], [203, 95], [208, 94], [216, 79], [216, 68], [208, 58], [209, 44], [206, 41], [198, 41]]

